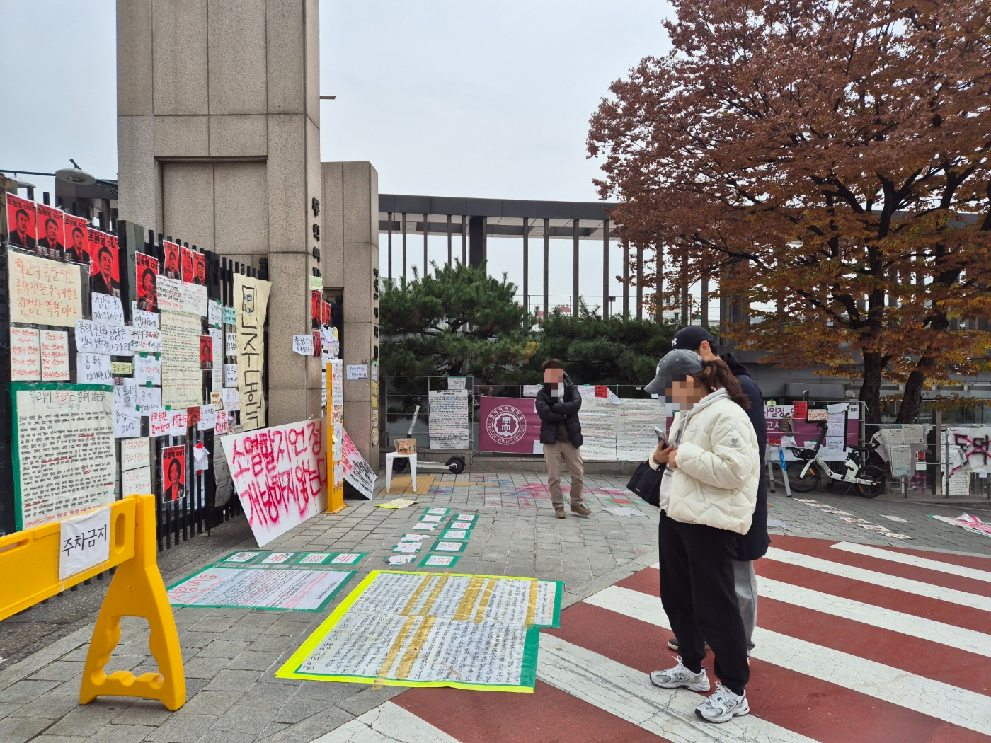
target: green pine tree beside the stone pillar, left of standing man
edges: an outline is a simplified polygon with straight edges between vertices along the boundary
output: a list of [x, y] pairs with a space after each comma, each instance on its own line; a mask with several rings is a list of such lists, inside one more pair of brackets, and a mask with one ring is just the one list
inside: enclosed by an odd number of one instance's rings
[[537, 344], [516, 285], [485, 265], [433, 265], [412, 281], [385, 281], [379, 300], [382, 365], [389, 376], [473, 373], [498, 381], [526, 363]]

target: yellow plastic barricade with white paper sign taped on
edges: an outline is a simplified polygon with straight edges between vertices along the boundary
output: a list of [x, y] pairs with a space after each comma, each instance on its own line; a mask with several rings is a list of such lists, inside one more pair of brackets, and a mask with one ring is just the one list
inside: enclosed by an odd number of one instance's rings
[[[141, 696], [159, 699], [174, 711], [185, 703], [185, 676], [175, 618], [157, 562], [155, 496], [130, 495], [109, 508], [110, 559], [65, 580], [58, 579], [59, 522], [0, 537], [0, 576], [7, 577], [0, 584], [0, 620], [116, 567], [93, 628], [79, 701], [87, 704], [106, 694]], [[159, 673], [106, 674], [104, 667], [120, 640], [122, 616], [148, 620], [149, 646]]]

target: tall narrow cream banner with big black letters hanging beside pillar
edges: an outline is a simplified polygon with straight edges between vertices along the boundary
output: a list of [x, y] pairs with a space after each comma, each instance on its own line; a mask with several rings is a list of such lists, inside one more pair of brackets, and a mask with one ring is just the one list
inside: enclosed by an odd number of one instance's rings
[[237, 310], [238, 389], [241, 392], [241, 427], [262, 428], [266, 422], [265, 318], [272, 284], [243, 273], [234, 274], [234, 308]]

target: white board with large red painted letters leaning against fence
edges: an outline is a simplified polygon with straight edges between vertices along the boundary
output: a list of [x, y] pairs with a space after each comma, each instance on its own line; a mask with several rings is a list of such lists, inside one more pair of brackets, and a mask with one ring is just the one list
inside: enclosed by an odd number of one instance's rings
[[309, 420], [221, 438], [259, 547], [327, 509], [323, 429], [321, 421]]

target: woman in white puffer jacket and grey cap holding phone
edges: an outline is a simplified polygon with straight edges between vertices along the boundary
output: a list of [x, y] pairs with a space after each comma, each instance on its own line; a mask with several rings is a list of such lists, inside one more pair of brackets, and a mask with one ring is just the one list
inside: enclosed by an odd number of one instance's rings
[[657, 365], [645, 391], [677, 408], [668, 441], [650, 465], [664, 466], [659, 527], [661, 602], [679, 641], [678, 664], [654, 671], [663, 689], [708, 691], [706, 643], [716, 656], [716, 693], [696, 714], [726, 722], [747, 714], [746, 632], [733, 578], [737, 535], [746, 534], [757, 499], [760, 455], [745, 408], [750, 399], [721, 359], [678, 349]]

